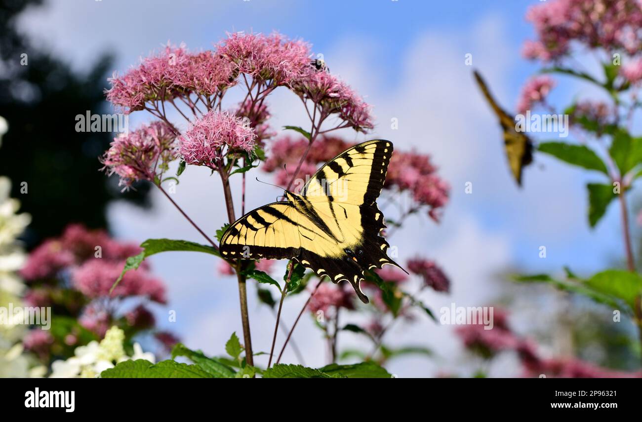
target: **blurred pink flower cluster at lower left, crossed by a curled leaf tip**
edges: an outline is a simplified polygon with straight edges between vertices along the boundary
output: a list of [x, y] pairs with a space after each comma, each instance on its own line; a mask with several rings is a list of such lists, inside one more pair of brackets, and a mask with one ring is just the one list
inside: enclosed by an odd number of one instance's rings
[[[123, 271], [124, 265], [124, 262], [110, 262], [102, 259], [88, 260], [73, 271], [73, 286], [92, 299], [107, 297], [112, 285]], [[117, 296], [146, 296], [158, 303], [166, 303], [167, 301], [162, 282], [141, 268], [125, 273], [123, 280], [111, 295], [111, 297]]]

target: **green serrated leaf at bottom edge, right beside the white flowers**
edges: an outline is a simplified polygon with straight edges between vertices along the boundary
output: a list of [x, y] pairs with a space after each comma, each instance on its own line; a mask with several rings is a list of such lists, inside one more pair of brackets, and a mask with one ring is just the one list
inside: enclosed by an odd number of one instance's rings
[[101, 372], [101, 378], [214, 378], [197, 365], [162, 360], [157, 364], [144, 359], [125, 360]]

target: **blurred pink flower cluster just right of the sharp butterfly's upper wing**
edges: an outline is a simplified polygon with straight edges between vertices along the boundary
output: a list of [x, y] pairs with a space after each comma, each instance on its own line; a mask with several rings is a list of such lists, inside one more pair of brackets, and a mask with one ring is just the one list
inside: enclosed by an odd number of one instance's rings
[[428, 215], [438, 221], [439, 211], [448, 203], [450, 187], [436, 172], [428, 155], [395, 151], [388, 165], [385, 187], [410, 191], [417, 205], [426, 205]]

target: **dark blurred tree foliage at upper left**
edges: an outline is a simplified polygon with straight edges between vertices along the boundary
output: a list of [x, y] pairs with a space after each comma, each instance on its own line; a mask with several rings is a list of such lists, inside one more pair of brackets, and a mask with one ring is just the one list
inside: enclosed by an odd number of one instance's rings
[[[75, 117], [112, 113], [103, 90], [112, 58], [103, 55], [85, 74], [42, 51], [15, 28], [17, 16], [41, 0], [0, 0], [0, 115], [9, 131], [0, 146], [0, 174], [12, 179], [12, 196], [33, 223], [24, 240], [33, 247], [68, 223], [106, 227], [110, 199], [146, 205], [146, 185], [121, 193], [116, 178], [99, 171], [98, 157], [114, 136], [76, 132]], [[21, 64], [22, 54], [27, 65]], [[27, 193], [21, 192], [26, 182]]]

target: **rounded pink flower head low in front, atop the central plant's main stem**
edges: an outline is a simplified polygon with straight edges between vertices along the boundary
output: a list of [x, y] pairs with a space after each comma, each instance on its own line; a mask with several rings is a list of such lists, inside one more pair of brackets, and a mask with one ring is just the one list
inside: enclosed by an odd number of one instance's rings
[[180, 137], [179, 151], [187, 164], [218, 169], [221, 158], [229, 152], [252, 153], [255, 138], [254, 129], [239, 117], [211, 110]]

